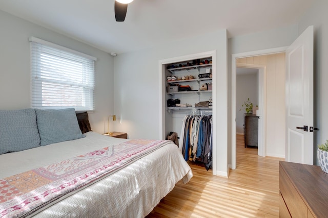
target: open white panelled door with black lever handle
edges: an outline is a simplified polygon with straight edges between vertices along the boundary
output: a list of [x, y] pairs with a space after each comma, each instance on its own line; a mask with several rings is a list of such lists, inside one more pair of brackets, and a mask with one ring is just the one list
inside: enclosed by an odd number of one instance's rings
[[285, 159], [313, 164], [313, 26], [286, 50], [285, 81]]

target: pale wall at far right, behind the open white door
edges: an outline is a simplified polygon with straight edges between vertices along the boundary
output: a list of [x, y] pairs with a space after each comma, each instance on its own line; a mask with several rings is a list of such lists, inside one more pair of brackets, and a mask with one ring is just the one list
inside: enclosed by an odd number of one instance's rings
[[314, 163], [317, 162], [317, 144], [328, 139], [328, 1], [317, 0], [299, 22], [298, 34], [314, 26]]

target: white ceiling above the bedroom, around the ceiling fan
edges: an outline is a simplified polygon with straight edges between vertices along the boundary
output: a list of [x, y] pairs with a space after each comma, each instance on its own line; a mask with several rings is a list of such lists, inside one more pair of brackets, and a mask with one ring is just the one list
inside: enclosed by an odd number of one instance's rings
[[115, 21], [114, 0], [0, 0], [0, 10], [120, 54], [218, 29], [231, 38], [288, 26], [314, 1], [134, 0], [125, 22]]

